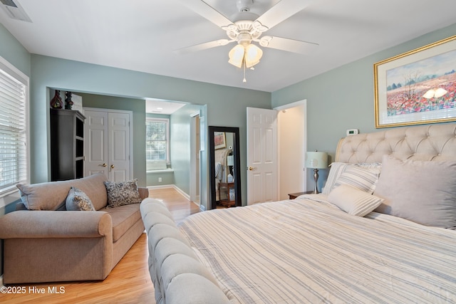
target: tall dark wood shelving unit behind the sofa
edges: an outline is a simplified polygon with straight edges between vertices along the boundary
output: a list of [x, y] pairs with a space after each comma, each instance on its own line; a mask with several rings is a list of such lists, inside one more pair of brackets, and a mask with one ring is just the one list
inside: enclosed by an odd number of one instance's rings
[[50, 109], [51, 181], [84, 176], [84, 120], [79, 111]]

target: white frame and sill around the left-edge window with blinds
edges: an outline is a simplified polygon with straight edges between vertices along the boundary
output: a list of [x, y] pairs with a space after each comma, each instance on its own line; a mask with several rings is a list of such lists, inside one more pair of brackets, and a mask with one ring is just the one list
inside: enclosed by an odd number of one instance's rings
[[10, 204], [13, 201], [16, 201], [17, 199], [20, 199], [19, 192], [17, 190], [16, 185], [17, 184], [28, 184], [30, 183], [30, 116], [29, 116], [29, 108], [30, 108], [30, 79], [28, 76], [24, 73], [21, 72], [18, 68], [16, 68], [14, 65], [9, 63], [9, 61], [6, 61], [5, 58], [0, 56], [0, 70], [2, 72], [6, 73], [9, 75], [11, 78], [14, 78], [14, 80], [22, 83], [25, 88], [24, 88], [24, 93], [25, 93], [25, 107], [26, 110], [24, 112], [25, 114], [25, 145], [26, 145], [26, 157], [25, 157], [25, 179], [18, 180], [16, 184], [11, 185], [9, 187], [5, 187], [4, 189], [0, 190], [0, 207], [1, 206], [6, 206], [7, 204]]

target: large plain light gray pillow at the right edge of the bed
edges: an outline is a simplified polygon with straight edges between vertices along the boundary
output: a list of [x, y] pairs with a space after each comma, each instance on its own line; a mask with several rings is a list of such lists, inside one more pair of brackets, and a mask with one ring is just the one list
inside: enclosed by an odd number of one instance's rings
[[456, 161], [383, 157], [373, 194], [385, 199], [374, 211], [426, 226], [456, 227]]

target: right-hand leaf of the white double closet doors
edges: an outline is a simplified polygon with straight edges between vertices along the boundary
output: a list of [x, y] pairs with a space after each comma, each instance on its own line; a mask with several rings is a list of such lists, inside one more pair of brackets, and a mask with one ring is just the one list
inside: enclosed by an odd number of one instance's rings
[[130, 115], [110, 112], [108, 115], [109, 179], [130, 179]]

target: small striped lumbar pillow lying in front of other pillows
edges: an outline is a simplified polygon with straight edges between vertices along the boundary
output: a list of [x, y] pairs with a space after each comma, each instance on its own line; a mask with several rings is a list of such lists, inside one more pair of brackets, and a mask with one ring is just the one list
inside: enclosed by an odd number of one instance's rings
[[380, 206], [383, 199], [348, 184], [342, 184], [329, 193], [328, 201], [348, 214], [365, 216]]

